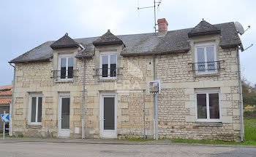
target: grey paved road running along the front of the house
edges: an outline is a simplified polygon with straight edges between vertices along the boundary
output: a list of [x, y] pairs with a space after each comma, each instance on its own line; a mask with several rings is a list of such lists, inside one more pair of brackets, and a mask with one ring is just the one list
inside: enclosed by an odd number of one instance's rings
[[0, 156], [256, 156], [256, 148], [195, 145], [110, 145], [56, 142], [0, 143]]

